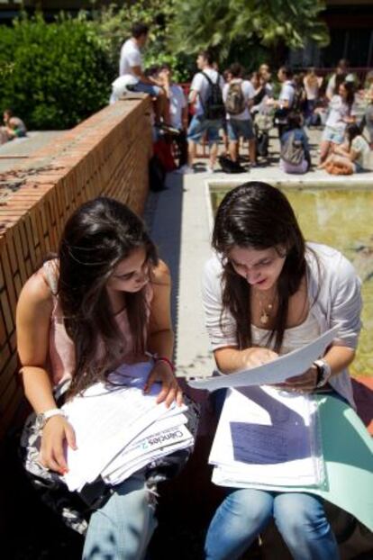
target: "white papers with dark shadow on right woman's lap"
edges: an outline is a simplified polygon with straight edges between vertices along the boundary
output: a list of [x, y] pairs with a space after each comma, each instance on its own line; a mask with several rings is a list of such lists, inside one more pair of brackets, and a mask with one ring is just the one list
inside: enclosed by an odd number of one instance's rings
[[268, 386], [229, 390], [209, 462], [223, 486], [323, 483], [314, 398]]

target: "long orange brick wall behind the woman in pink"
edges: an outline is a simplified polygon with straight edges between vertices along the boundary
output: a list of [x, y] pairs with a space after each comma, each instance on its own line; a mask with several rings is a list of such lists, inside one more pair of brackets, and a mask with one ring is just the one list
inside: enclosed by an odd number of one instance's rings
[[33, 155], [15, 174], [18, 182], [9, 175], [17, 190], [0, 205], [0, 438], [23, 397], [14, 326], [21, 288], [42, 258], [56, 250], [64, 223], [79, 204], [106, 194], [143, 211], [149, 112], [147, 98], [106, 107]]

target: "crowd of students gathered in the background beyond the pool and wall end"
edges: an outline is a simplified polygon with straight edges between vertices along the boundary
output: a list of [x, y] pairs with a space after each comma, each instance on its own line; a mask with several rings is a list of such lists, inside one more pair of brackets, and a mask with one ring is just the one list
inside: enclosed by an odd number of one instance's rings
[[[202, 51], [196, 59], [198, 71], [186, 90], [173, 83], [168, 65], [143, 70], [141, 49], [148, 34], [146, 25], [133, 25], [132, 37], [121, 50], [120, 77], [114, 82], [111, 101], [125, 90], [153, 97], [155, 129], [177, 142], [180, 173], [194, 173], [200, 142], [209, 148], [208, 172], [214, 171], [218, 158], [223, 171], [244, 171], [241, 156], [246, 146], [250, 167], [259, 162], [265, 165], [259, 158], [268, 156], [273, 126], [280, 143], [279, 165], [287, 173], [305, 173], [313, 164], [334, 174], [368, 168], [368, 152], [373, 148], [373, 72], [366, 77], [366, 88], [358, 90], [358, 78], [346, 59], [340, 60], [328, 79], [318, 76], [314, 68], [295, 74], [287, 66], [279, 68], [274, 79], [268, 64], [248, 74], [235, 62], [220, 73], [211, 52]], [[360, 115], [358, 95], [364, 105]], [[350, 124], [359, 127], [353, 149]], [[320, 158], [314, 162], [305, 131], [312, 126], [323, 128]], [[363, 135], [365, 127], [368, 140]], [[344, 166], [341, 157], [348, 160]]]

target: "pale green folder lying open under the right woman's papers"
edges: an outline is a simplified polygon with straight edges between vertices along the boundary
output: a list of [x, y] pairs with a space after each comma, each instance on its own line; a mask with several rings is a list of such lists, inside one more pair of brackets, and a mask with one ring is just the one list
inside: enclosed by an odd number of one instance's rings
[[348, 511], [370, 530], [373, 530], [373, 438], [355, 411], [341, 399], [323, 395], [319, 403], [325, 482], [314, 488], [232, 483], [214, 468], [213, 482], [233, 488], [262, 488], [277, 492], [312, 492]]

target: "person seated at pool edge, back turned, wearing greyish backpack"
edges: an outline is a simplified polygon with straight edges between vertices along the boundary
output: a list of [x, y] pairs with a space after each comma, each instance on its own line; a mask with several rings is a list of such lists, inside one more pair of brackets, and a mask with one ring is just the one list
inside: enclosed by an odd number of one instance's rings
[[280, 164], [285, 173], [305, 173], [311, 167], [308, 138], [302, 127], [302, 116], [296, 111], [287, 115], [287, 130], [280, 139]]

